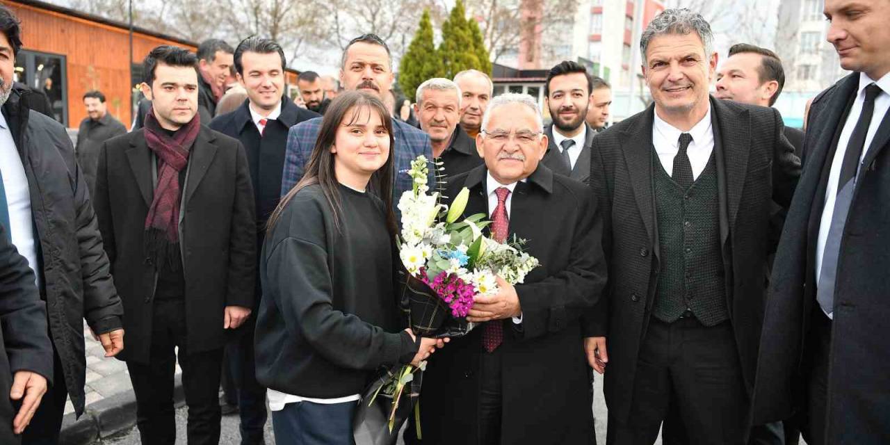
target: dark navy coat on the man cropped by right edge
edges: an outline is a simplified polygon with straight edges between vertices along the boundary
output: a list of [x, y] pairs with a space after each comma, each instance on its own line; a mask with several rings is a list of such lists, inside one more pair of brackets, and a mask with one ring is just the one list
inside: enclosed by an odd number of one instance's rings
[[[816, 302], [815, 255], [828, 172], [846, 105], [858, 91], [854, 72], [810, 108], [809, 157], [776, 253], [765, 308], [754, 402], [755, 421], [805, 409], [809, 374], [804, 345]], [[841, 240], [829, 359], [828, 443], [890, 442], [890, 113], [878, 126], [859, 171]], [[815, 422], [823, 422], [816, 419]]]

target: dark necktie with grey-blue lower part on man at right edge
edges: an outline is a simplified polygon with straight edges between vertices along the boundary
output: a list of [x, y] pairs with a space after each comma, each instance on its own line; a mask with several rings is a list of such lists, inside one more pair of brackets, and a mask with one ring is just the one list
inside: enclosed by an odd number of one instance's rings
[[859, 159], [862, 158], [862, 149], [865, 147], [865, 137], [869, 133], [871, 117], [875, 114], [875, 98], [881, 93], [878, 85], [871, 84], [865, 87], [865, 101], [862, 102], [862, 112], [859, 120], [850, 134], [850, 142], [846, 144], [844, 163], [840, 167], [840, 177], [837, 179], [837, 197], [834, 210], [831, 212], [831, 225], [829, 236], [825, 239], [825, 247], [822, 250], [822, 265], [819, 273], [819, 283], [816, 285], [816, 301], [822, 311], [831, 314], [834, 312], [834, 289], [837, 279], [837, 258], [840, 255], [840, 239], [844, 234], [846, 215], [853, 203], [853, 190], [856, 186], [856, 174], [859, 171]]

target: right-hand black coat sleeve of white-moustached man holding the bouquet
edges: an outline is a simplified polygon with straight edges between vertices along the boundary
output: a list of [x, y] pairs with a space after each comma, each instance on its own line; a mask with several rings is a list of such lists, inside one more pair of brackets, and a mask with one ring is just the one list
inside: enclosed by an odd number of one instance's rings
[[578, 196], [578, 217], [566, 268], [537, 283], [516, 286], [522, 306], [522, 338], [545, 336], [565, 328], [570, 319], [577, 320], [600, 298], [606, 283], [600, 246], [602, 218], [590, 193]]

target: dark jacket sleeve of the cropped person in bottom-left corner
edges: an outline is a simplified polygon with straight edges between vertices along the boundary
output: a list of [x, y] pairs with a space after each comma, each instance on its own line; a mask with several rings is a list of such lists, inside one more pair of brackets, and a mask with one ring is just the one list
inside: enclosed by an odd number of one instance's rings
[[46, 303], [37, 293], [34, 272], [0, 225], [0, 443], [21, 442], [12, 433], [20, 405], [9, 398], [12, 376], [32, 371], [53, 384], [53, 344], [47, 332]]

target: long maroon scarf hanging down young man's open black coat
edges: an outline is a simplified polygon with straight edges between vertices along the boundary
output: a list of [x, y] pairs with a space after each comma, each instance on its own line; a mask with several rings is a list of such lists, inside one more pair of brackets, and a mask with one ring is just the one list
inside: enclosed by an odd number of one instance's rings
[[178, 264], [179, 172], [189, 163], [189, 148], [198, 137], [201, 117], [196, 113], [173, 136], [166, 134], [151, 109], [145, 117], [145, 142], [158, 157], [158, 185], [145, 218], [145, 250], [155, 264]]

